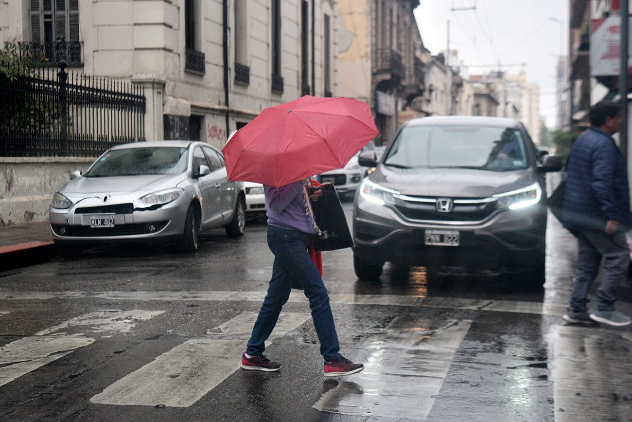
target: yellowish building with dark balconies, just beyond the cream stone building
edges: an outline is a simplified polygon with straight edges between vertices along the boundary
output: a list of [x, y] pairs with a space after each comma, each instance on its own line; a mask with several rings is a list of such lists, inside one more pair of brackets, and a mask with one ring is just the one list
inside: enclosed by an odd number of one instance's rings
[[419, 0], [338, 0], [338, 95], [371, 104], [388, 142], [399, 114], [415, 113], [423, 95], [423, 63], [417, 54], [421, 35], [413, 9]]

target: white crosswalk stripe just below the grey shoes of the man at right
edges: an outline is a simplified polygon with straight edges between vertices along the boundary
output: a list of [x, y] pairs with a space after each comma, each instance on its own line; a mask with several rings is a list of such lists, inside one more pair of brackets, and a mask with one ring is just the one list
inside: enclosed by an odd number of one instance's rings
[[556, 326], [549, 339], [553, 349], [555, 420], [629, 420], [632, 415], [629, 333]]

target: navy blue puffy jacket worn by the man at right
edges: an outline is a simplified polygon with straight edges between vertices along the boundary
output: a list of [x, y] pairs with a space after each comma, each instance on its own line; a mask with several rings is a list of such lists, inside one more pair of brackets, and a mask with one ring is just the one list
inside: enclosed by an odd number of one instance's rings
[[619, 230], [631, 227], [628, 170], [614, 139], [589, 128], [573, 144], [564, 192], [564, 226], [603, 230], [608, 220]]

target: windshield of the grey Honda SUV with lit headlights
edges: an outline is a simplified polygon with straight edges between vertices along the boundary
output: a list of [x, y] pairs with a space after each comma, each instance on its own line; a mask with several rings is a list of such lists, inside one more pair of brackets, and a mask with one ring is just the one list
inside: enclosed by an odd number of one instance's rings
[[506, 171], [526, 168], [526, 157], [525, 140], [518, 128], [408, 126], [399, 132], [384, 164]]

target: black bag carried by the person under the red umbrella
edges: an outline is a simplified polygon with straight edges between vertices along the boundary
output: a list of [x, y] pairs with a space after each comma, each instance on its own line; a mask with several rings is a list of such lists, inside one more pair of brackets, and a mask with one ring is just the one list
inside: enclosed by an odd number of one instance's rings
[[336, 188], [331, 183], [324, 183], [318, 189], [322, 190], [319, 200], [310, 201], [314, 221], [321, 232], [314, 240], [315, 251], [335, 251], [353, 247], [353, 239]]

